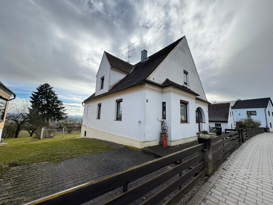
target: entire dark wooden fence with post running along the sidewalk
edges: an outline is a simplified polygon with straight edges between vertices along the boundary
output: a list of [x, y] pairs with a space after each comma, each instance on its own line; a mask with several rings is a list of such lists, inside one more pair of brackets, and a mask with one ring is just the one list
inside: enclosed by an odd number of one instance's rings
[[[198, 182], [204, 174], [212, 175], [213, 171], [236, 148], [251, 136], [262, 133], [263, 130], [263, 128], [229, 130], [231, 132], [214, 138], [200, 137], [198, 138], [199, 145], [26, 204], [82, 204], [118, 188], [122, 191], [105, 201], [104, 204], [129, 204], [152, 190], [152, 195], [142, 199], [139, 204], [158, 204], [171, 193], [172, 196], [163, 201], [163, 204], [175, 204], [180, 196]], [[173, 165], [172, 168], [161, 171], [170, 164]], [[133, 184], [131, 182], [151, 173], [156, 174], [148, 180], [131, 186]], [[164, 184], [163, 187], [162, 184]], [[160, 185], [161, 188], [154, 191]]]

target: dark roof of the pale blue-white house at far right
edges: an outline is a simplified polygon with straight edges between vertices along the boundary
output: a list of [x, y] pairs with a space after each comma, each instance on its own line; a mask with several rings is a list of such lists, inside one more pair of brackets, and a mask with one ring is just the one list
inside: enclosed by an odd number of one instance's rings
[[233, 105], [232, 109], [241, 109], [241, 108], [265, 108], [268, 105], [268, 102], [272, 103], [270, 98], [258, 98], [250, 100], [237, 100]]

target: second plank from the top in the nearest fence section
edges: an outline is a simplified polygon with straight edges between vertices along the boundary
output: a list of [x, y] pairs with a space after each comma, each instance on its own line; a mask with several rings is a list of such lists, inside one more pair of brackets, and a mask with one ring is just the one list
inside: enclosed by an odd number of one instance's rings
[[179, 174], [181, 171], [189, 168], [190, 166], [197, 164], [200, 160], [204, 159], [204, 153], [199, 154], [196, 157], [193, 157], [172, 169], [169, 169], [152, 179], [134, 187], [133, 189], [120, 194], [119, 196], [111, 199], [110, 201], [106, 202], [105, 204], [108, 205], [122, 205], [122, 204], [129, 204], [130, 202], [134, 201], [135, 199], [139, 198], [140, 196], [144, 195], [145, 193], [149, 192], [150, 190], [154, 189], [155, 187], [159, 186], [160, 184], [164, 183], [165, 181], [169, 180], [170, 178], [174, 177], [176, 174]]

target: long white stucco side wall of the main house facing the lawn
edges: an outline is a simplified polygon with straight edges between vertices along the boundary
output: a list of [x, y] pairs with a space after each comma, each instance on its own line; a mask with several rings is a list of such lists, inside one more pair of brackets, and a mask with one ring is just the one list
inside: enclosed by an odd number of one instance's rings
[[[122, 120], [116, 119], [116, 100], [123, 99]], [[104, 97], [85, 103], [83, 111], [83, 126], [110, 132], [137, 141], [144, 138], [144, 106], [145, 91]], [[101, 103], [101, 118], [97, 119], [98, 103]], [[89, 113], [87, 116], [87, 106]], [[140, 124], [138, 120], [141, 120]], [[83, 133], [82, 133], [83, 134]], [[96, 138], [96, 136], [87, 137]]]

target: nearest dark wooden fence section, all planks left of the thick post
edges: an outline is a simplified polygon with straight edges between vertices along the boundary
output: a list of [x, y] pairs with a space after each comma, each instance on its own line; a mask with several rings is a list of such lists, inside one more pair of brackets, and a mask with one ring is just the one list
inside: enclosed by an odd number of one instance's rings
[[[130, 182], [172, 163], [175, 163], [174, 167], [168, 168], [168, 170], [157, 174], [153, 178], [128, 189]], [[204, 144], [200, 144], [27, 204], [81, 204], [119, 187], [123, 187], [123, 193], [116, 195], [109, 201], [105, 201], [104, 204], [128, 204], [142, 197], [160, 184], [173, 179], [168, 185], [162, 187], [141, 202], [141, 204], [157, 204], [176, 190], [177, 193], [164, 202], [164, 204], [170, 204], [177, 200], [178, 195], [185, 193], [204, 176], [204, 164]], [[177, 177], [174, 178], [174, 176]]]

